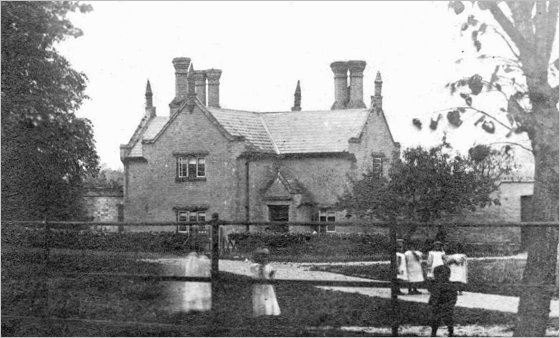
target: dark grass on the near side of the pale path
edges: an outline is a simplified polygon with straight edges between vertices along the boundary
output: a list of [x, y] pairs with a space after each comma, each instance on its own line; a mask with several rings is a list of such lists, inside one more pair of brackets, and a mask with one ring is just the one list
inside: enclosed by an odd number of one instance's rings
[[[49, 271], [160, 274], [156, 263], [117, 253], [53, 253]], [[366, 335], [341, 331], [340, 326], [388, 327], [390, 302], [359, 294], [308, 285], [277, 286], [282, 315], [251, 317], [248, 278], [222, 273], [217, 290], [217, 311], [172, 314], [166, 310], [166, 284], [119, 278], [82, 276], [44, 278], [40, 252], [2, 254], [2, 315], [83, 318], [108, 322], [53, 322], [42, 319], [3, 319], [2, 336], [340, 336]], [[401, 303], [403, 325], [426, 325], [429, 308]], [[515, 315], [458, 308], [458, 325], [508, 325]], [[115, 321], [134, 321], [125, 325]], [[149, 326], [146, 323], [169, 325]], [[554, 323], [554, 322], [552, 322]], [[173, 327], [171, 325], [180, 325]], [[557, 321], [556, 321], [556, 328]], [[331, 327], [317, 330], [313, 327]], [[371, 335], [371, 333], [367, 334]]]

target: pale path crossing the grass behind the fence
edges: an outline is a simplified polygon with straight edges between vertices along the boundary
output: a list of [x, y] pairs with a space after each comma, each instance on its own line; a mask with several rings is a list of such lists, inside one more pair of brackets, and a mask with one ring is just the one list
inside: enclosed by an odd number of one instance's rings
[[[151, 260], [153, 261], [153, 260]], [[180, 259], [157, 259], [156, 261], [164, 264], [180, 264]], [[370, 262], [371, 263], [371, 262]], [[220, 271], [235, 273], [239, 275], [250, 276], [249, 261], [220, 260]], [[273, 262], [272, 266], [276, 270], [277, 279], [302, 279], [302, 280], [336, 280], [336, 281], [369, 281], [370, 279], [345, 276], [333, 272], [310, 271], [309, 268], [313, 264], [308, 263], [277, 263]], [[315, 264], [316, 265], [316, 264]], [[359, 293], [370, 297], [390, 298], [390, 290], [388, 288], [364, 288], [364, 287], [330, 287], [317, 286], [325, 290], [333, 290], [348, 293]], [[422, 290], [421, 295], [403, 295], [399, 296], [400, 300], [407, 302], [428, 303], [429, 293]], [[485, 309], [492, 311], [501, 311], [509, 313], [517, 313], [519, 304], [518, 297], [492, 295], [476, 292], [464, 292], [459, 296], [457, 301], [458, 307]], [[550, 303], [550, 317], [557, 318], [559, 312], [558, 300]]]

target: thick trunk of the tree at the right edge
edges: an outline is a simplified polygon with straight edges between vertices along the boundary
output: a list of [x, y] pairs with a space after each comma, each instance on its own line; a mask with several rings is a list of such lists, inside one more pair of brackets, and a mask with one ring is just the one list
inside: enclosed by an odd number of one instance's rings
[[[555, 110], [552, 111], [552, 110]], [[558, 111], [549, 109], [549, 123], [542, 123], [533, 139], [535, 187], [533, 221], [558, 221]], [[539, 130], [540, 129], [540, 130]], [[527, 229], [528, 257], [524, 284], [554, 285], [557, 264], [558, 228]], [[518, 308], [517, 337], [544, 336], [549, 322], [552, 292], [542, 287], [525, 287]]]

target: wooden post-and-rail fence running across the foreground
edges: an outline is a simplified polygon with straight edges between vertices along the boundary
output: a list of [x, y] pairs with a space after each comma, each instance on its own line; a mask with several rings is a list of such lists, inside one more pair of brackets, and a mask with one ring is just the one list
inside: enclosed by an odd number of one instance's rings
[[[398, 298], [397, 291], [400, 287], [406, 285], [406, 282], [400, 282], [396, 278], [396, 251], [397, 251], [397, 237], [396, 228], [398, 227], [418, 227], [418, 228], [437, 228], [437, 227], [466, 227], [466, 228], [535, 228], [535, 227], [547, 227], [547, 228], [558, 228], [558, 222], [504, 222], [504, 223], [472, 223], [472, 222], [446, 222], [446, 223], [423, 223], [423, 222], [246, 222], [246, 221], [224, 221], [220, 220], [213, 215], [213, 219], [205, 222], [75, 222], [75, 221], [2, 221], [2, 226], [15, 227], [17, 229], [21, 228], [35, 228], [43, 230], [45, 232], [44, 239], [44, 263], [45, 263], [45, 274], [46, 278], [83, 278], [83, 277], [101, 277], [101, 278], [123, 278], [132, 280], [150, 280], [150, 281], [161, 281], [161, 282], [207, 282], [212, 285], [212, 297], [215, 297], [216, 286], [219, 283], [224, 283], [224, 278], [219, 275], [219, 237], [218, 233], [221, 226], [254, 226], [254, 227], [267, 227], [267, 226], [325, 226], [329, 224], [334, 224], [337, 227], [349, 227], [349, 226], [359, 226], [363, 228], [367, 227], [379, 227], [388, 228], [390, 230], [390, 248], [388, 254], [390, 255], [391, 264], [391, 275], [390, 281], [378, 281], [378, 280], [316, 280], [316, 279], [272, 279], [272, 280], [259, 280], [259, 279], [247, 279], [248, 284], [271, 284], [271, 285], [313, 285], [313, 286], [324, 286], [324, 287], [360, 287], [360, 288], [390, 288], [391, 289], [391, 312], [390, 317], [393, 320], [391, 325], [393, 336], [398, 335]], [[58, 271], [48, 271], [49, 262], [49, 252], [50, 252], [50, 232], [53, 230], [70, 230], [70, 231], [82, 231], [87, 229], [92, 229], [92, 227], [163, 227], [163, 226], [173, 226], [178, 229], [179, 226], [190, 226], [190, 225], [208, 225], [210, 226], [209, 238], [211, 239], [211, 276], [210, 277], [190, 277], [190, 276], [177, 276], [177, 275], [149, 275], [149, 274], [120, 274], [120, 273], [75, 273], [75, 272], [58, 272]], [[419, 283], [419, 287], [428, 287], [429, 282]], [[550, 284], [520, 284], [520, 283], [484, 283], [486, 286], [498, 286], [498, 287], [509, 287], [509, 288], [543, 288], [547, 291], [554, 292], [557, 289], [556, 285]], [[466, 291], [469, 287], [465, 288]], [[215, 302], [212, 302], [215, 304]], [[214, 305], [213, 305], [214, 306]], [[215, 309], [213, 309], [215, 310]], [[136, 325], [135, 322], [119, 322], [119, 321], [105, 321], [105, 320], [93, 320], [93, 319], [81, 319], [81, 318], [56, 318], [56, 317], [33, 317], [33, 316], [10, 316], [2, 315], [2, 318], [6, 319], [39, 319], [39, 320], [65, 320], [65, 321], [89, 321], [91, 323], [104, 324], [104, 325]], [[180, 327], [181, 325], [175, 324], [164, 324], [164, 323], [145, 323], [150, 325], [163, 325], [170, 327]], [[192, 329], [192, 328], [191, 328]]]

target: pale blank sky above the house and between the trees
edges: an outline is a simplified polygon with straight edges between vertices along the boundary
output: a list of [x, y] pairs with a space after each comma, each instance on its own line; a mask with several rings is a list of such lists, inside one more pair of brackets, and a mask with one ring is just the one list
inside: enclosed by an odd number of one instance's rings
[[[466, 14], [456, 16], [447, 2], [91, 4], [92, 12], [70, 15], [84, 35], [58, 49], [89, 78], [91, 99], [78, 115], [93, 122], [101, 162], [112, 168], [122, 167], [119, 145], [128, 142], [144, 113], [147, 79], [157, 114], [169, 114], [174, 57], [190, 57], [195, 69], [222, 69], [220, 105], [254, 111], [290, 110], [297, 80], [304, 110], [329, 109], [334, 101], [330, 63], [365, 60], [364, 102], [369, 106], [381, 71], [384, 111], [405, 147], [441, 138], [441, 131], [427, 128], [432, 113], [463, 104], [445, 84], [478, 67], [455, 63], [476, 55], [470, 37], [460, 35]], [[488, 39], [482, 40], [488, 54], [507, 55], [500, 40]], [[477, 71], [489, 77], [492, 69]], [[413, 117], [424, 122], [422, 132], [412, 126]], [[484, 136], [459, 131], [449, 137], [458, 146]]]

